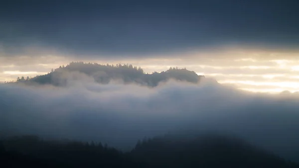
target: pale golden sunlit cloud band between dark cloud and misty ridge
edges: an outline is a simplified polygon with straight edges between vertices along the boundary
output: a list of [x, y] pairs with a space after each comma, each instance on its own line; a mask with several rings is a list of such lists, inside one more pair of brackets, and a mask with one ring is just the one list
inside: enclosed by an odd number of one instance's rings
[[[116, 59], [117, 58], [117, 59]], [[15, 80], [17, 76], [35, 76], [50, 72], [71, 61], [100, 64], [133, 64], [144, 72], [161, 72], [170, 67], [186, 68], [198, 75], [215, 78], [252, 92], [281, 92], [299, 89], [299, 52], [225, 48], [153, 55], [151, 57], [89, 57], [79, 59], [69, 55], [1, 57], [0, 80]], [[258, 86], [258, 88], [257, 88]]]

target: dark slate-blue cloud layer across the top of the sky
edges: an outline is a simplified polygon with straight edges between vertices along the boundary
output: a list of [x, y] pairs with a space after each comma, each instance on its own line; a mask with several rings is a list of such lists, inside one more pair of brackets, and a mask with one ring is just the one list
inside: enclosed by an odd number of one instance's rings
[[299, 0], [7, 0], [0, 45], [76, 54], [299, 46]]

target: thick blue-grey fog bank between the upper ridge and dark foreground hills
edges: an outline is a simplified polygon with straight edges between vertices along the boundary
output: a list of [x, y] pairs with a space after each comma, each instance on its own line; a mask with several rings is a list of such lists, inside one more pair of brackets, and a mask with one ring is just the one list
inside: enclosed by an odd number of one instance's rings
[[208, 79], [147, 87], [68, 76], [66, 87], [1, 84], [1, 136], [93, 140], [126, 150], [145, 136], [218, 131], [299, 161], [297, 94], [247, 93]]

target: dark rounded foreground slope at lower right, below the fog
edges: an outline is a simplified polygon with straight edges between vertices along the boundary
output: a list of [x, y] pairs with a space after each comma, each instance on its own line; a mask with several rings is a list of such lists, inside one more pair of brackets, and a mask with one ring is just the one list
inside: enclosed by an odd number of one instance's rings
[[297, 168], [295, 164], [231, 137], [185, 140], [161, 137], [139, 142], [132, 155], [150, 168]]

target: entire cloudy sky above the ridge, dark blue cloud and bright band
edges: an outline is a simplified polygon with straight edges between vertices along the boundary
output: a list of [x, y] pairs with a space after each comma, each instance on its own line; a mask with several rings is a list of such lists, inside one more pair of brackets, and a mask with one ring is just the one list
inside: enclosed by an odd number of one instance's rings
[[299, 91], [298, 0], [7, 0], [0, 81], [71, 61], [186, 67], [254, 92]]

